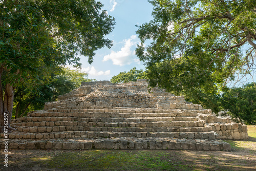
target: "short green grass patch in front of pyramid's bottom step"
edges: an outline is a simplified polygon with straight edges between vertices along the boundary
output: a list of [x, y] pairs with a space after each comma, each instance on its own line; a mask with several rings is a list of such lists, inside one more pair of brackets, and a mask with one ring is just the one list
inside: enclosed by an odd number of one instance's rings
[[[178, 154], [177, 154], [178, 155]], [[176, 157], [177, 157], [176, 155]], [[168, 159], [168, 160], [167, 160]], [[115, 151], [92, 150], [61, 153], [45, 165], [50, 168], [75, 168], [78, 170], [187, 170], [190, 165], [175, 162], [175, 156], [165, 151]], [[85, 168], [86, 167], [86, 168]]]

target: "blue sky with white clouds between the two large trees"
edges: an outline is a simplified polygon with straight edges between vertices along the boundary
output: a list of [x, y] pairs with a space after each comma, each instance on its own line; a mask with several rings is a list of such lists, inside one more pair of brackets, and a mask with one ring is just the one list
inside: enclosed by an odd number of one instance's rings
[[102, 48], [96, 51], [94, 61], [90, 65], [88, 57], [81, 56], [82, 71], [88, 73], [90, 79], [110, 80], [120, 72], [145, 69], [142, 62], [134, 54], [140, 40], [136, 34], [138, 28], [153, 19], [153, 6], [147, 0], [98, 0], [103, 10], [115, 18], [115, 28], [105, 38], [113, 40], [111, 49]]

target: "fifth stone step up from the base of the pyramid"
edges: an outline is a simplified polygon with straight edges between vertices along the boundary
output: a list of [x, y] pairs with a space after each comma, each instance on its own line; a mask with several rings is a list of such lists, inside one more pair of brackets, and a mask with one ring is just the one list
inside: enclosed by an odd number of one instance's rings
[[108, 117], [108, 118], [131, 118], [131, 117], [176, 117], [176, 116], [183, 116], [183, 117], [196, 117], [199, 113], [196, 112], [156, 112], [156, 113], [137, 113], [126, 111], [123, 113], [120, 112], [34, 112], [28, 114], [28, 117], [80, 117], [80, 118], [86, 118], [86, 117]]

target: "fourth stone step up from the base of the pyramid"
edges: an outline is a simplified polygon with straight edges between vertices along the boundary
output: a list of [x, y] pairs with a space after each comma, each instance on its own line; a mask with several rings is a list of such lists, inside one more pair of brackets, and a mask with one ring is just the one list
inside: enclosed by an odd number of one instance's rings
[[48, 122], [48, 121], [81, 121], [81, 122], [156, 122], [156, 121], [198, 121], [196, 117], [131, 117], [131, 118], [105, 118], [105, 117], [23, 117], [22, 122]]

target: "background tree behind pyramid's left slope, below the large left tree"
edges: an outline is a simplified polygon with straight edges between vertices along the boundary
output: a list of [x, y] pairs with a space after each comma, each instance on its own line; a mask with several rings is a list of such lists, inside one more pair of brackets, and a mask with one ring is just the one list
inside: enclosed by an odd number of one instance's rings
[[31, 92], [23, 87], [14, 91], [15, 118], [26, 116], [26, 113], [44, 109], [45, 102], [56, 101], [59, 95], [69, 93], [80, 87], [81, 82], [93, 81], [88, 74], [79, 70], [60, 68], [44, 78], [44, 84], [38, 85], [39, 91]]

